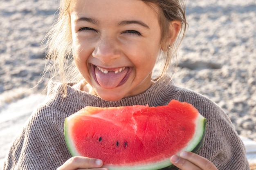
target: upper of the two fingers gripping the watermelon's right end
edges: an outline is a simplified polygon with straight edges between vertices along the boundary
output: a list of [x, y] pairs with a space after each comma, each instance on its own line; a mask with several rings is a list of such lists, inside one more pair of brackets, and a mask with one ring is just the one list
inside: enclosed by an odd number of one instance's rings
[[191, 163], [200, 167], [202, 170], [217, 170], [216, 166], [214, 166], [211, 161], [193, 152], [182, 152], [180, 157], [190, 161]]

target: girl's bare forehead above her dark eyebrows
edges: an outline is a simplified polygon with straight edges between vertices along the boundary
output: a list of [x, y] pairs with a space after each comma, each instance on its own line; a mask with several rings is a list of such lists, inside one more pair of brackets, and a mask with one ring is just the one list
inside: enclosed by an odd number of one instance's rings
[[72, 0], [72, 18], [84, 15], [103, 20], [112, 18], [158, 20], [157, 8], [142, 0]]

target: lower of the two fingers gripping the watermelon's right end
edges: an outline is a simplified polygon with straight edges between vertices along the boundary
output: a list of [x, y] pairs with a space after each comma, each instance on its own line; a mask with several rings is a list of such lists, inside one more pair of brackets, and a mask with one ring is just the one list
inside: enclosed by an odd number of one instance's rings
[[171, 157], [171, 163], [173, 163], [173, 165], [177, 166], [177, 168], [180, 168], [182, 170], [202, 170], [195, 164], [177, 155], [173, 155]]

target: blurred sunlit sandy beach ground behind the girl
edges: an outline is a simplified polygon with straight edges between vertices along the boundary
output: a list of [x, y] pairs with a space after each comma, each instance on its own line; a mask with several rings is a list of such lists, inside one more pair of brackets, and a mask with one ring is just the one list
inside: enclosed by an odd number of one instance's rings
[[[1, 0], [0, 169], [11, 141], [45, 98], [41, 42], [57, 8], [52, 0]], [[188, 0], [186, 13], [189, 29], [173, 81], [212, 99], [238, 134], [255, 142], [256, 1]]]

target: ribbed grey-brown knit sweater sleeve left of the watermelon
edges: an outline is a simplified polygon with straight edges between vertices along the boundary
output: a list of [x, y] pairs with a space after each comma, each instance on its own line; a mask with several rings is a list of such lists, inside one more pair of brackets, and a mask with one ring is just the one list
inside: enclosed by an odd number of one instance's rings
[[4, 170], [56, 170], [61, 166], [71, 157], [65, 144], [64, 119], [59, 111], [38, 108], [9, 149]]

